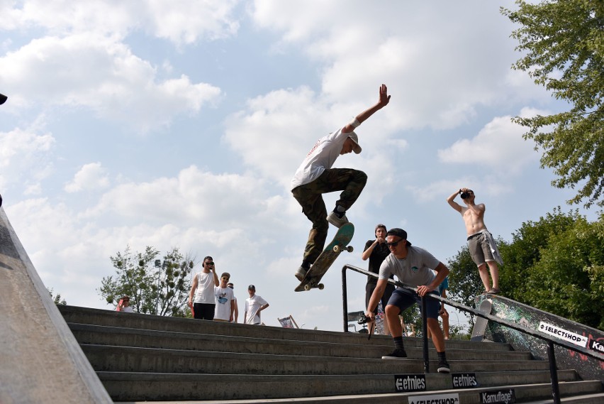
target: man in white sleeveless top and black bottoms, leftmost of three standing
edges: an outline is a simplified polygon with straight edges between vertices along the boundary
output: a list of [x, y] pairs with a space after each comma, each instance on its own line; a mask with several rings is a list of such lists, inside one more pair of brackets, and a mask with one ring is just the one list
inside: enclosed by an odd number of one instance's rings
[[193, 308], [194, 318], [197, 320], [214, 320], [216, 310], [214, 288], [220, 283], [213, 258], [211, 256], [203, 258], [201, 267], [203, 270], [197, 273], [191, 282], [189, 307]]

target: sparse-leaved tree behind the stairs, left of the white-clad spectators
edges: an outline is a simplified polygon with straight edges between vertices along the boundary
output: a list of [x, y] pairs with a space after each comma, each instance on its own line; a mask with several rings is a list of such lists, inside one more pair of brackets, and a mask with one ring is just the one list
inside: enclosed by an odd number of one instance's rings
[[115, 257], [109, 257], [116, 268], [116, 278], [103, 278], [98, 289], [101, 297], [117, 305], [123, 295], [128, 295], [135, 312], [188, 317], [186, 302], [194, 258], [183, 256], [177, 247], [163, 257], [163, 262], [156, 259], [159, 254], [150, 246], [144, 253], [132, 253], [126, 246], [123, 253], [118, 251]]

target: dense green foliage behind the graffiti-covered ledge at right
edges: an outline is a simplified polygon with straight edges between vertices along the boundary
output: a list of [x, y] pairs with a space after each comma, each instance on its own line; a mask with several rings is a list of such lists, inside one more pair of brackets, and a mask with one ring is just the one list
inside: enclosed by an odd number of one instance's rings
[[558, 207], [523, 223], [500, 252], [502, 295], [604, 329], [604, 214], [589, 223]]

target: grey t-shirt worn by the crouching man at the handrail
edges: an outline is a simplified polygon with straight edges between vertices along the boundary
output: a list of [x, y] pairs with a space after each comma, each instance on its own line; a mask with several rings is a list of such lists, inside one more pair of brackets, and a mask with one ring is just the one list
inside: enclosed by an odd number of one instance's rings
[[436, 274], [438, 261], [431, 253], [415, 246], [407, 246], [406, 258], [396, 258], [393, 253], [379, 267], [379, 279], [388, 279], [391, 274], [399, 281], [411, 286], [430, 285]]

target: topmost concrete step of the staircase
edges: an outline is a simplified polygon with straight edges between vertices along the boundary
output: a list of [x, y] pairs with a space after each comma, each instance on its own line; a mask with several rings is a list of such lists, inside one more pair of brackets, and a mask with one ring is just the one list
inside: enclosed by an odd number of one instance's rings
[[[331, 332], [313, 329], [288, 329], [281, 327], [252, 327], [247, 324], [231, 324], [206, 320], [191, 320], [177, 317], [140, 315], [138, 313], [113, 312], [111, 310], [91, 309], [87, 307], [58, 306], [67, 323], [94, 324], [106, 327], [147, 329], [187, 334], [212, 334], [225, 337], [250, 337], [259, 339], [287, 339], [290, 341], [332, 342], [334, 344], [364, 344], [392, 346], [392, 338], [353, 332]], [[404, 338], [406, 346], [422, 346], [419, 338]], [[432, 342], [429, 342], [432, 346]], [[484, 342], [459, 341], [449, 339], [448, 348], [484, 349]], [[510, 344], [489, 343], [488, 349], [510, 350]]]

